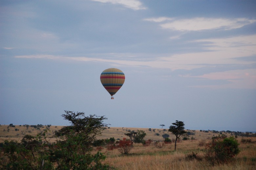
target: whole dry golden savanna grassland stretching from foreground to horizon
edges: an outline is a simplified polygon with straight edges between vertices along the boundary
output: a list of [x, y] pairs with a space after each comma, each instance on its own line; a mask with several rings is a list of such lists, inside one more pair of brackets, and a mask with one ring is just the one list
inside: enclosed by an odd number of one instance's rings
[[[55, 141], [53, 137], [55, 131], [61, 129], [62, 126], [42, 126], [40, 128], [25, 127], [23, 125], [8, 125], [0, 126], [0, 142], [4, 140], [20, 141], [24, 135], [29, 134], [36, 136], [47, 129], [48, 139]], [[9, 130], [8, 130], [9, 129]], [[193, 132], [190, 140], [180, 140], [177, 143], [177, 151], [174, 151], [174, 142], [164, 143], [162, 135], [168, 134], [170, 139], [175, 136], [168, 132], [168, 129], [151, 129], [148, 128], [126, 128], [126, 127], [109, 127], [102, 132], [102, 136], [98, 139], [115, 138], [116, 140], [128, 138], [124, 135], [128, 131], [143, 130], [147, 134], [144, 138], [152, 139], [153, 142], [148, 146], [143, 146], [141, 143], [134, 143], [133, 148], [127, 155], [121, 155], [117, 149], [108, 150], [107, 147], [96, 147], [93, 152], [100, 150], [106, 156], [104, 163], [116, 169], [138, 169], [138, 170], [161, 170], [161, 169], [210, 169], [210, 170], [248, 170], [256, 169], [256, 138], [255, 137], [237, 137], [240, 153], [230, 162], [224, 164], [212, 164], [205, 159], [205, 143], [209, 142], [214, 136], [219, 133], [200, 132], [199, 130], [187, 130]], [[157, 135], [159, 134], [159, 135]], [[231, 133], [224, 133], [228, 137]], [[191, 140], [191, 138], [194, 138]], [[251, 142], [241, 142], [243, 139], [251, 139]], [[155, 141], [159, 141], [156, 143]]]

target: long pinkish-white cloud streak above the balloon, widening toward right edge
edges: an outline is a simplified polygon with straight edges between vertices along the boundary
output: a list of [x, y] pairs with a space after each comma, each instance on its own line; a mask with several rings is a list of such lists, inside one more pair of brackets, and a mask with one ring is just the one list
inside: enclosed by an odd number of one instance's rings
[[252, 59], [252, 56], [256, 56], [256, 34], [201, 39], [196, 40], [196, 42], [205, 44], [204, 48], [207, 51], [179, 54], [98, 53], [74, 57], [65, 55], [19, 55], [15, 57], [99, 62], [109, 63], [115, 67], [169, 69], [170, 71], [176, 71], [172, 74], [176, 73], [176, 75], [185, 78], [227, 82], [200, 87], [256, 89], [256, 63]]

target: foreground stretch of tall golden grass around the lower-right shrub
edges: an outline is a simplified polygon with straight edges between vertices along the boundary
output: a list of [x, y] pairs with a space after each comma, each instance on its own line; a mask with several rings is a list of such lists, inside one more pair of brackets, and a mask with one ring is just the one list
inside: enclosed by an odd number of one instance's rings
[[[255, 139], [254, 139], [255, 140]], [[256, 142], [256, 141], [255, 141]], [[153, 144], [144, 147], [134, 144], [127, 156], [121, 156], [117, 150], [101, 150], [106, 155], [105, 163], [117, 169], [130, 170], [165, 170], [165, 169], [193, 169], [193, 170], [254, 170], [256, 168], [256, 143], [240, 144], [241, 153], [227, 164], [211, 165], [204, 159], [204, 147], [199, 147], [199, 141], [181, 141], [174, 151], [174, 144], [165, 144], [163, 148], [156, 148]], [[197, 159], [186, 159], [186, 155], [197, 153]], [[201, 160], [202, 159], [202, 160]]]

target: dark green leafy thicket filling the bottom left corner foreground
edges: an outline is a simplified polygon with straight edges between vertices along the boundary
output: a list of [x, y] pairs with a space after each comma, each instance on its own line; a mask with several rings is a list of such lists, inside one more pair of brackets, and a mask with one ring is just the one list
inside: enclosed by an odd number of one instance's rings
[[[78, 137], [79, 138], [79, 137]], [[0, 169], [107, 169], [102, 164], [105, 159], [102, 153], [92, 155], [83, 152], [83, 146], [74, 136], [66, 141], [41, 142], [30, 135], [17, 141], [5, 141], [1, 144]], [[78, 140], [77, 140], [78, 139]]]

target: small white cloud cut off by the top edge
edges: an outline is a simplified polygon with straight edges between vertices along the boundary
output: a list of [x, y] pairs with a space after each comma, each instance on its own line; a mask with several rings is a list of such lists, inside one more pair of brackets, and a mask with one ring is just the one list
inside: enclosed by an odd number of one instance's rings
[[130, 8], [133, 10], [145, 10], [146, 8], [143, 7], [142, 3], [138, 0], [92, 0], [102, 3], [112, 3], [112, 4], [120, 4], [126, 8]]

